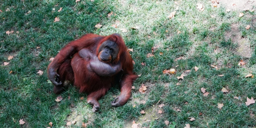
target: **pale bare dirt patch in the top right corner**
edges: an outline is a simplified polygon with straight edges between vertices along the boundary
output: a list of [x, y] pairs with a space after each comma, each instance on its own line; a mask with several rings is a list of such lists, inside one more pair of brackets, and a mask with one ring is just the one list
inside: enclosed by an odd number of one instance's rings
[[231, 11], [242, 11], [252, 9], [256, 5], [256, 0], [220, 0], [220, 3]]

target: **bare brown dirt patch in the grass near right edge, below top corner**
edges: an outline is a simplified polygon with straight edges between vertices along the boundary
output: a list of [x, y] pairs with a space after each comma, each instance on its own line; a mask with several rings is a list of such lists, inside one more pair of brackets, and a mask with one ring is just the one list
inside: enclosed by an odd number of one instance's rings
[[226, 39], [231, 38], [233, 43], [238, 44], [238, 48], [235, 51], [236, 54], [250, 58], [252, 56], [252, 49], [250, 48], [250, 42], [247, 38], [242, 38], [241, 33], [238, 30], [238, 26], [240, 26], [238, 23], [231, 24], [231, 31], [227, 32], [225, 34]]

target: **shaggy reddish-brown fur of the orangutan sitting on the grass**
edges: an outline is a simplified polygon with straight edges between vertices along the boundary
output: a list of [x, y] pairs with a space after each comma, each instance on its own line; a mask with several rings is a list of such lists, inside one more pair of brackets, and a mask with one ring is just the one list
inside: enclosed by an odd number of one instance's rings
[[[119, 46], [119, 53], [115, 60], [110, 64], [121, 62], [123, 72], [117, 73], [114, 76], [103, 77], [97, 75], [95, 72], [88, 71], [87, 66], [89, 62], [84, 61], [78, 54], [78, 51], [83, 48], [91, 49], [97, 56], [99, 55], [99, 47], [104, 41], [116, 42]], [[71, 58], [72, 57], [72, 58]], [[127, 47], [119, 34], [112, 34], [109, 36], [99, 36], [96, 34], [86, 34], [80, 39], [68, 43], [60, 50], [54, 60], [48, 66], [49, 69], [57, 71], [60, 75], [59, 81], [64, 83], [69, 80], [80, 89], [80, 92], [86, 92], [88, 103], [97, 105], [98, 100], [105, 95], [111, 85], [120, 82], [121, 94], [111, 104], [112, 106], [124, 105], [131, 96], [131, 87], [137, 75], [133, 73], [132, 58], [127, 51]], [[100, 70], [100, 69], [99, 69]], [[48, 74], [49, 75], [49, 74]], [[54, 85], [54, 92], [62, 90], [62, 85]], [[95, 109], [95, 108], [93, 108]]]

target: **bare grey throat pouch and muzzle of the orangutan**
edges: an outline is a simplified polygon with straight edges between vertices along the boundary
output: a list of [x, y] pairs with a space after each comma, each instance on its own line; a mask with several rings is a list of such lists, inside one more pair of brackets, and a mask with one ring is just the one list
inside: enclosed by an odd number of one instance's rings
[[[105, 51], [109, 51], [109, 53], [104, 54], [104, 57], [106, 57], [107, 55], [111, 55], [110, 50], [105, 49]], [[79, 51], [79, 56], [86, 61], [90, 61], [90, 68], [99, 76], [112, 76], [121, 71], [120, 62], [111, 66], [105, 62], [100, 61], [90, 49], [81, 49]]]

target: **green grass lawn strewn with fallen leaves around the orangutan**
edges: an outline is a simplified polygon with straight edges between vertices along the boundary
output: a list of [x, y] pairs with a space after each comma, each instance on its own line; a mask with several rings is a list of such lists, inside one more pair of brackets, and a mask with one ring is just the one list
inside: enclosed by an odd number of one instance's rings
[[[78, 121], [71, 126], [74, 128], [81, 127], [81, 122], [90, 123], [89, 128], [131, 127], [133, 120], [147, 128], [170, 127], [165, 120], [175, 122], [176, 128], [188, 123], [199, 128], [256, 127], [256, 104], [245, 105], [246, 97], [256, 99], [256, 77], [245, 78], [249, 73], [256, 74], [256, 12], [242, 11], [245, 15], [238, 17], [240, 11], [226, 12], [224, 5], [215, 8], [208, 0], [177, 2], [178, 5], [168, 0], [0, 1], [0, 62], [10, 62], [0, 66], [0, 127], [46, 128], [52, 122], [54, 128], [63, 128], [74, 120]], [[204, 11], [196, 9], [198, 2], [204, 5]], [[60, 7], [63, 9], [58, 12]], [[168, 19], [177, 7], [175, 17]], [[111, 11], [115, 15], [108, 17]], [[53, 22], [55, 17], [60, 21]], [[98, 23], [103, 27], [95, 28]], [[246, 30], [246, 25], [251, 28]], [[139, 29], [131, 29], [136, 26]], [[128, 31], [122, 32], [121, 28]], [[14, 33], [7, 35], [6, 31]], [[134, 50], [130, 52], [134, 71], [142, 75], [134, 82], [131, 100], [124, 106], [110, 105], [113, 97], [120, 94], [117, 86], [99, 100], [98, 113], [91, 111], [85, 100], [87, 95], [72, 86], [61, 94], [61, 102], [55, 101], [60, 95], [53, 94], [53, 85], [47, 82], [49, 59], [86, 33], [120, 33], [127, 47]], [[240, 46], [232, 40], [234, 34], [239, 35], [238, 40], [248, 41], [250, 57], [237, 52]], [[155, 46], [159, 48], [154, 56], [147, 58]], [[10, 55], [14, 58], [8, 60]], [[185, 59], [174, 61], [181, 56]], [[238, 66], [241, 59], [245, 66]], [[199, 67], [197, 72], [194, 66]], [[177, 74], [163, 74], [170, 68], [175, 68]], [[44, 71], [42, 76], [37, 74], [39, 70]], [[191, 72], [184, 80], [177, 80], [185, 70]], [[219, 77], [220, 74], [224, 76]], [[181, 84], [176, 85], [178, 82]], [[145, 94], [138, 91], [141, 84], [148, 86]], [[203, 96], [202, 87], [209, 92], [207, 97]], [[222, 93], [222, 87], [229, 93]], [[218, 103], [224, 104], [222, 109], [217, 108]], [[160, 104], [165, 104], [162, 114], [157, 113]], [[195, 120], [189, 121], [189, 117]], [[20, 119], [26, 123], [19, 125]]]

